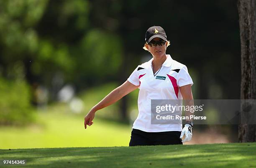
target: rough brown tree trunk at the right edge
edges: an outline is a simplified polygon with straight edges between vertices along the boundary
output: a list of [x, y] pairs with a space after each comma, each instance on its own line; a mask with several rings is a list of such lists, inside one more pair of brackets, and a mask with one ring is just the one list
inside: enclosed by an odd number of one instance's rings
[[[241, 37], [241, 99], [256, 99], [256, 0], [238, 0]], [[255, 112], [255, 111], [254, 111]], [[241, 113], [241, 117], [246, 117]], [[239, 142], [256, 141], [256, 125], [238, 126]]]

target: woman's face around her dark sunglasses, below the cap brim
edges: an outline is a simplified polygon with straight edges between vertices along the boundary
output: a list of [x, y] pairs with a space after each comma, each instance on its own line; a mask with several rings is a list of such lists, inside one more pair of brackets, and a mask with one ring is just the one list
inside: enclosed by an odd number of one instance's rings
[[[163, 39], [156, 37], [151, 42], [159, 42]], [[145, 47], [148, 49], [148, 51], [155, 57], [161, 57], [162, 55], [165, 55], [166, 52], [166, 47], [167, 47], [168, 42], [166, 41], [164, 45], [156, 45], [156, 47], [151, 47], [149, 44], [145, 44]]]

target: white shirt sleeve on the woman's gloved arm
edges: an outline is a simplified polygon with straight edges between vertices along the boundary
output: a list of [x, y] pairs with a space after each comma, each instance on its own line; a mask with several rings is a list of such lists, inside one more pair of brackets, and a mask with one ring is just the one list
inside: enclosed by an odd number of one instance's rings
[[186, 66], [179, 70], [177, 84], [179, 87], [185, 86], [187, 84], [191, 84], [192, 86], [194, 84]]

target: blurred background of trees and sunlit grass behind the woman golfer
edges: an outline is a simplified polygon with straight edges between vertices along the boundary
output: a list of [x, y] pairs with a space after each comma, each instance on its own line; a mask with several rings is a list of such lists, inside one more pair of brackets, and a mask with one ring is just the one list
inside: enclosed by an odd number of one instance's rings
[[[138, 89], [84, 116], [151, 59], [160, 25], [166, 54], [187, 65], [194, 99], [240, 99], [236, 0], [0, 0], [0, 148], [128, 146]], [[237, 125], [197, 125], [192, 141], [237, 142]]]

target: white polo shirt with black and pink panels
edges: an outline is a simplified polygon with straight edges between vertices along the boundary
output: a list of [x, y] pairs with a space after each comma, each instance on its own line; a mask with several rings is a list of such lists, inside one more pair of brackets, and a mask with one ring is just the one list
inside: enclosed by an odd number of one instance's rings
[[187, 67], [167, 55], [161, 68], [154, 74], [152, 61], [139, 65], [127, 79], [139, 86], [138, 117], [133, 123], [134, 129], [146, 132], [182, 131], [182, 124], [151, 124], [152, 99], [182, 99], [179, 87], [193, 81]]

